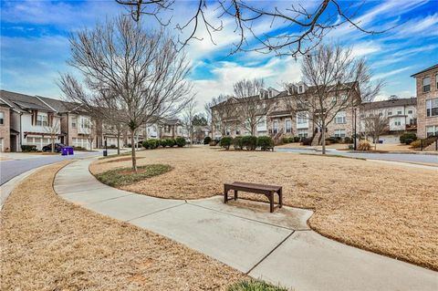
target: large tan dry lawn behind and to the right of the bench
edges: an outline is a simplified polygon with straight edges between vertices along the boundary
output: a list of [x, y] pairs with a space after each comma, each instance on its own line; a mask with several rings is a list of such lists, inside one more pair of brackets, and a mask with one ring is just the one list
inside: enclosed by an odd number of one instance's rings
[[[438, 270], [438, 171], [374, 161], [286, 152], [219, 151], [209, 147], [142, 151], [139, 164], [173, 171], [122, 189], [195, 199], [220, 194], [224, 182], [280, 184], [287, 205], [313, 208], [318, 233]], [[90, 166], [94, 173], [130, 162]], [[258, 199], [258, 195], [250, 195]]]

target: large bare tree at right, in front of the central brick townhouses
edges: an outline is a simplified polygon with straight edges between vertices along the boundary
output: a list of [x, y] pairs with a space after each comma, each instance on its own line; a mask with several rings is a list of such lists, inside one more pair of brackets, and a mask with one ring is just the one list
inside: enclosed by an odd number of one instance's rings
[[371, 101], [382, 82], [371, 82], [365, 59], [353, 57], [351, 49], [323, 45], [303, 59], [304, 84], [293, 94], [298, 109], [308, 109], [308, 120], [318, 126], [322, 153], [326, 153], [326, 129], [340, 111], [361, 101]]

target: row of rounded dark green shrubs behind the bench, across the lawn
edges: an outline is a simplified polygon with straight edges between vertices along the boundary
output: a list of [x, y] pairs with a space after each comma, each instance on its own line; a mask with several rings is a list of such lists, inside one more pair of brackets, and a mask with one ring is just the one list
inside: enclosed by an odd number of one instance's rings
[[220, 140], [219, 145], [225, 150], [229, 150], [230, 146], [233, 145], [235, 150], [247, 150], [255, 151], [259, 147], [262, 151], [269, 150], [274, 147], [274, 140], [271, 137], [255, 137], [252, 135], [247, 135], [243, 137], [224, 137]]

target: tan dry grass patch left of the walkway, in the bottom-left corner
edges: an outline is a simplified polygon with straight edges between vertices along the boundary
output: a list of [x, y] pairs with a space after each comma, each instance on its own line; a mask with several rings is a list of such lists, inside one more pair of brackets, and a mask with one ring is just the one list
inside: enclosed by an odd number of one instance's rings
[[158, 234], [67, 203], [66, 162], [37, 171], [1, 212], [2, 290], [221, 290], [245, 275]]

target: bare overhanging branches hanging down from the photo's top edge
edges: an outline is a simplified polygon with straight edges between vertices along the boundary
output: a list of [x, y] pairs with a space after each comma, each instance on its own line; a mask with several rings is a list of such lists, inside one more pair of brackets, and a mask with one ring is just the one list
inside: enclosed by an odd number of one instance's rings
[[[142, 15], [152, 16], [162, 26], [172, 23], [172, 7], [174, 0], [116, 0], [120, 5], [127, 6], [130, 16], [139, 21]], [[209, 8], [209, 5], [213, 7]], [[255, 50], [261, 53], [274, 52], [276, 55], [305, 55], [318, 46], [329, 31], [349, 25], [364, 34], [378, 34], [383, 31], [367, 30], [355, 20], [359, 16], [362, 5], [339, 0], [320, 0], [315, 7], [306, 2], [283, 2], [276, 5], [264, 5], [259, 1], [245, 0], [197, 0], [193, 12], [188, 19], [176, 23], [175, 28], [183, 36], [178, 43], [185, 46], [191, 39], [202, 40], [198, 32], [204, 29], [212, 43], [214, 33], [224, 29], [224, 24], [232, 26], [237, 37], [231, 54], [237, 51]], [[208, 9], [214, 12], [208, 14]], [[359, 17], [357, 19], [360, 19]], [[230, 21], [231, 20], [231, 21]], [[260, 29], [262, 23], [267, 23], [269, 30], [287, 27], [287, 33], [270, 34]], [[392, 27], [391, 27], [392, 28]], [[390, 28], [390, 29], [391, 29]], [[188, 31], [188, 33], [186, 32]], [[254, 47], [255, 40], [255, 47]]]

